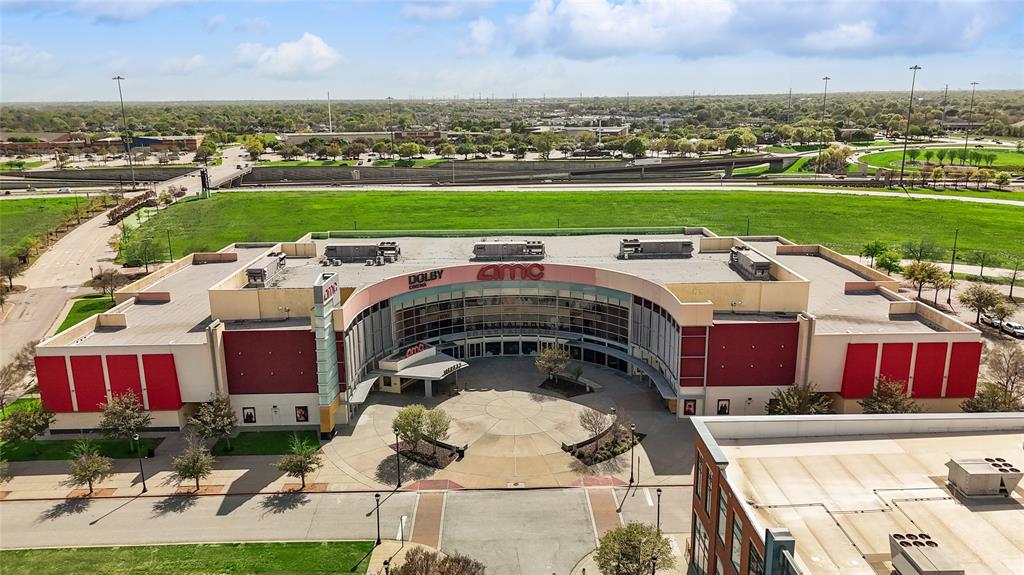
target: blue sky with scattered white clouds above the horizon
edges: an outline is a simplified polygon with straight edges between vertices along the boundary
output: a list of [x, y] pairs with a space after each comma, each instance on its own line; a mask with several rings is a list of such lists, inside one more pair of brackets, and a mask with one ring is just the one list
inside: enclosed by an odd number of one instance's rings
[[0, 0], [0, 101], [1024, 88], [1024, 0]]

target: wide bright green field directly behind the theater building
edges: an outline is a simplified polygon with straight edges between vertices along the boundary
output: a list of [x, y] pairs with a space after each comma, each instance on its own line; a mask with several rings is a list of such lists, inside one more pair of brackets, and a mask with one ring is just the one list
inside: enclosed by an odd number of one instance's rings
[[[288, 214], [288, 217], [281, 217]], [[1024, 255], [1024, 211], [942, 200], [750, 190], [282, 191], [216, 193], [175, 204], [143, 224], [174, 252], [232, 241], [290, 241], [309, 231], [707, 226], [719, 234], [779, 234], [859, 251], [870, 239], [921, 237]], [[473, 233], [467, 231], [467, 233]]]

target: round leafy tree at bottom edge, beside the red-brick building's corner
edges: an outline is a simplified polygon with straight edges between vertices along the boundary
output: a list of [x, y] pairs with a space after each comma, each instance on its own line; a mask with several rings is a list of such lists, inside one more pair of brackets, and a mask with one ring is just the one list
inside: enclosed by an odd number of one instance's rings
[[676, 566], [669, 539], [653, 525], [636, 522], [605, 533], [594, 552], [594, 561], [601, 573], [607, 575], [647, 575], [655, 566], [666, 570]]

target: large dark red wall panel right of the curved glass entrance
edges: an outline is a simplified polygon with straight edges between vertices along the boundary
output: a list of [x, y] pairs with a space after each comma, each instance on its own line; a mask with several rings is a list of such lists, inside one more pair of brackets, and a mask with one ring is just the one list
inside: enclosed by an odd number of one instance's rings
[[708, 342], [709, 386], [785, 386], [797, 373], [796, 322], [720, 323]]

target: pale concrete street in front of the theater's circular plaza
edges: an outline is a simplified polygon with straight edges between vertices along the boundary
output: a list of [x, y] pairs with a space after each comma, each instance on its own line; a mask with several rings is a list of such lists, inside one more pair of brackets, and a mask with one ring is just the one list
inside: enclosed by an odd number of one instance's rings
[[[447, 491], [439, 515], [422, 519], [426, 493], [387, 495], [382, 538], [398, 538], [406, 516], [407, 539], [432, 533], [434, 546], [468, 555], [493, 575], [567, 574], [596, 546], [598, 530], [657, 516], [656, 494], [644, 488]], [[602, 521], [588, 502], [597, 497], [625, 499], [622, 512], [611, 505]], [[677, 540], [689, 532], [690, 497], [687, 487], [664, 489], [662, 527]], [[375, 539], [373, 508], [370, 493], [0, 501], [0, 546]]]

